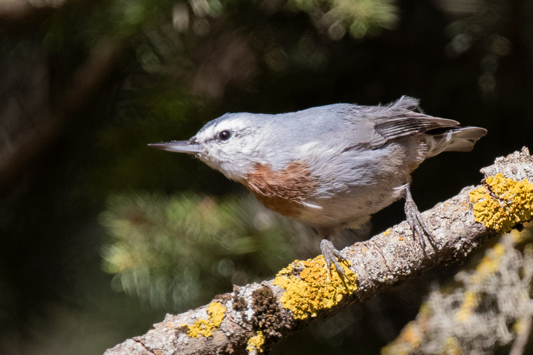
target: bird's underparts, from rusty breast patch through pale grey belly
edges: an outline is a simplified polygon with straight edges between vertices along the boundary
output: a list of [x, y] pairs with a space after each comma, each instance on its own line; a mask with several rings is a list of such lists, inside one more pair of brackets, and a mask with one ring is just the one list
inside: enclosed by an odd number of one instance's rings
[[319, 155], [281, 170], [255, 164], [241, 182], [283, 216], [314, 227], [357, 228], [401, 197], [409, 179], [405, 149], [391, 144], [378, 151]]

